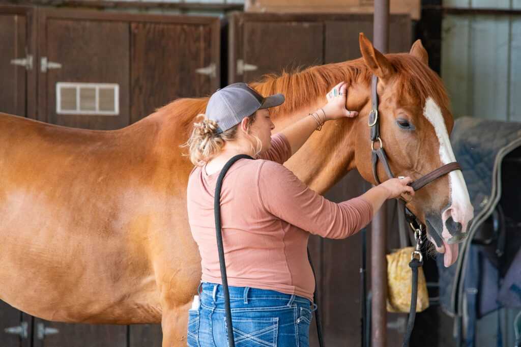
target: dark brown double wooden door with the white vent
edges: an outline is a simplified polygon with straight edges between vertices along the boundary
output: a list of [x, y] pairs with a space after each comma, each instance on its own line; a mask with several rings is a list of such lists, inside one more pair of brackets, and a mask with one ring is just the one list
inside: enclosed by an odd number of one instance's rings
[[219, 88], [219, 19], [40, 10], [39, 119], [111, 130]]

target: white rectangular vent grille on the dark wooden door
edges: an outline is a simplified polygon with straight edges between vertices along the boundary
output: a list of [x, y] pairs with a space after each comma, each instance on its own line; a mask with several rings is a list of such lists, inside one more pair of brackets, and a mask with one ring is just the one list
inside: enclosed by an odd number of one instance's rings
[[68, 115], [119, 114], [116, 83], [56, 83], [56, 113]]

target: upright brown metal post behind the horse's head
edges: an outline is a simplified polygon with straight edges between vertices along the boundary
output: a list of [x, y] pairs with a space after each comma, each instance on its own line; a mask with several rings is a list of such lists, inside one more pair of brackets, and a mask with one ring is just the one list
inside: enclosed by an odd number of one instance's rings
[[[389, 0], [375, 0], [373, 24], [376, 49], [389, 50]], [[386, 204], [373, 218], [371, 233], [371, 347], [387, 347]]]

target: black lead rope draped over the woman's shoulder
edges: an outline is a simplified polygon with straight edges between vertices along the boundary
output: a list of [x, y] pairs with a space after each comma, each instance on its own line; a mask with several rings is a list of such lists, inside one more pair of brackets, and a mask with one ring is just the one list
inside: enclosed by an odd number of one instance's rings
[[[217, 178], [217, 183], [215, 185], [215, 198], [214, 198], [214, 213], [215, 213], [215, 233], [217, 237], [217, 251], [219, 253], [219, 265], [221, 268], [221, 279], [222, 279], [222, 291], [225, 294], [225, 311], [226, 311], [226, 325], [228, 327], [228, 345], [229, 347], [235, 347], [235, 339], [233, 337], [233, 325], [231, 321], [231, 307], [230, 307], [230, 292], [228, 290], [228, 277], [226, 276], [226, 263], [225, 263], [225, 253], [224, 247], [222, 246], [222, 230], [221, 230], [221, 188], [222, 188], [222, 180], [225, 178], [226, 172], [233, 165], [233, 163], [237, 162], [239, 159], [252, 159], [253, 158], [246, 154], [239, 154], [232, 157], [228, 162], [222, 167], [221, 172], [219, 173], [219, 177]], [[309, 254], [309, 249], [307, 250], [307, 258], [309, 259], [309, 265], [311, 265], [311, 269], [313, 270], [313, 277], [315, 277], [315, 269], [313, 267], [313, 262], [311, 261], [311, 254]], [[313, 293], [313, 300], [317, 305], [317, 309], [315, 311], [316, 325], [317, 325], [317, 334], [318, 334], [318, 342], [320, 347], [324, 347], [324, 338], [322, 337], [322, 324], [320, 321], [320, 314], [318, 309], [318, 292], [317, 292], [317, 281], [315, 277], [315, 292]]]

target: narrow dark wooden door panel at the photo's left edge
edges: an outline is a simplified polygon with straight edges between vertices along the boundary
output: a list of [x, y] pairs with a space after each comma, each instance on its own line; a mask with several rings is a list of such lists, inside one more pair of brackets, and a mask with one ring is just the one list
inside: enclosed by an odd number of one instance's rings
[[26, 116], [26, 68], [10, 63], [26, 57], [27, 18], [0, 9], [0, 111]]

